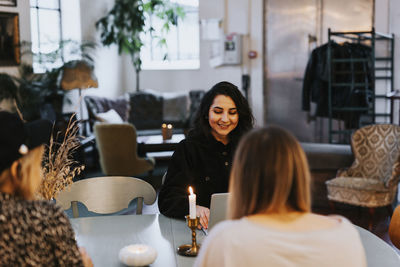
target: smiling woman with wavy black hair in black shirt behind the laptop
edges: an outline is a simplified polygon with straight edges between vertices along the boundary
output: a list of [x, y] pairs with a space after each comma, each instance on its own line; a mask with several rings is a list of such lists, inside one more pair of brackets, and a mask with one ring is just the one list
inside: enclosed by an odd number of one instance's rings
[[207, 228], [211, 195], [227, 192], [233, 153], [253, 121], [249, 104], [235, 85], [214, 85], [203, 96], [193, 129], [172, 156], [158, 196], [160, 212], [182, 219], [188, 215], [188, 187], [192, 186], [197, 216]]

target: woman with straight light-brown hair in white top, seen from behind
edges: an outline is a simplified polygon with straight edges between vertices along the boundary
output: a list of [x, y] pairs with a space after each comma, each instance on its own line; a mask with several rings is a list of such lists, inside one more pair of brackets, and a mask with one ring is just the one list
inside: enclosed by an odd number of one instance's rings
[[351, 222], [311, 213], [310, 176], [303, 149], [286, 130], [244, 136], [230, 177], [230, 220], [212, 229], [195, 266], [367, 266]]

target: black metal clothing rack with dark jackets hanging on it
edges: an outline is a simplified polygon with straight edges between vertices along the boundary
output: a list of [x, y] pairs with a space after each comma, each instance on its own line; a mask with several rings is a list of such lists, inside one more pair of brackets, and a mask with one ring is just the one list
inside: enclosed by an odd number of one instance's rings
[[[333, 50], [335, 40], [369, 47], [370, 53], [361, 56], [358, 54], [357, 57], [337, 57]], [[386, 42], [384, 56], [376, 56], [377, 42]], [[353, 32], [334, 32], [328, 29], [327, 55], [329, 143], [350, 143], [351, 134], [356, 129], [367, 124], [387, 122], [390, 118], [390, 101], [386, 95], [394, 90], [394, 35], [377, 33], [374, 28], [371, 31]], [[346, 66], [345, 70], [338, 71], [336, 64]], [[362, 64], [361, 70], [356, 69], [356, 64]], [[341, 75], [346, 75], [344, 82], [340, 79]], [[334, 99], [335, 90], [348, 90], [352, 97], [357, 93], [360, 99], [365, 98], [365, 103], [337, 105], [338, 101]], [[354, 117], [355, 120], [351, 126], [343, 126], [340, 116]]]

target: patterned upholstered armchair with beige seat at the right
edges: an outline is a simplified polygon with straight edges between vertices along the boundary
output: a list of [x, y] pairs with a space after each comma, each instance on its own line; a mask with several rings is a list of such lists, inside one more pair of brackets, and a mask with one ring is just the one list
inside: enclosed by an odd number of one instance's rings
[[[392, 204], [400, 175], [400, 126], [369, 125], [351, 140], [355, 160], [326, 181], [328, 199], [373, 208]], [[391, 208], [391, 206], [390, 206]]]

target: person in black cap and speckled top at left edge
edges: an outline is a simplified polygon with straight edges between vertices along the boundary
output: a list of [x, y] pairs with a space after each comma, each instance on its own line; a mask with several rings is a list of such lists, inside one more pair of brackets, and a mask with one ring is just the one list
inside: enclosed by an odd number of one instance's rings
[[6, 111], [0, 124], [0, 265], [93, 266], [64, 211], [35, 199], [49, 136], [32, 135], [42, 124], [24, 124]]

